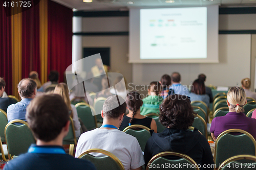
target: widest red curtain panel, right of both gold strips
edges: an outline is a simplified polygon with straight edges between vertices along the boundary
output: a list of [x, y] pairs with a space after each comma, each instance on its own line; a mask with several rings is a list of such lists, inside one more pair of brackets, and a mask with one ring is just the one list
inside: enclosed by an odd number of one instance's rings
[[72, 63], [72, 17], [72, 9], [48, 1], [48, 74], [59, 71], [59, 82]]

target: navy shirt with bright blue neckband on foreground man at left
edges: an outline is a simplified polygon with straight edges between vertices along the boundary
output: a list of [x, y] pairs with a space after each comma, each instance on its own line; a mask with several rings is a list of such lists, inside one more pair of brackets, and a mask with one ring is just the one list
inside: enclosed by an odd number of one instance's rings
[[18, 169], [18, 170], [96, 170], [95, 166], [88, 160], [74, 158], [68, 154], [54, 153], [51, 150], [61, 150], [65, 153], [65, 150], [56, 145], [43, 145], [38, 146], [32, 144], [31, 148], [39, 150], [39, 153], [26, 153], [22, 154], [19, 157], [8, 161], [5, 164], [5, 170]]

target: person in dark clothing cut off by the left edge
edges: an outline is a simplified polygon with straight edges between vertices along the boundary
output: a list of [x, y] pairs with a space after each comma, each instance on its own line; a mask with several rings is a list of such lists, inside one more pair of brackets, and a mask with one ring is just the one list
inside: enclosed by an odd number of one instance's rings
[[5, 80], [0, 78], [0, 109], [7, 112], [7, 108], [9, 105], [14, 104], [15, 102], [11, 98], [3, 98], [3, 94], [5, 92]]

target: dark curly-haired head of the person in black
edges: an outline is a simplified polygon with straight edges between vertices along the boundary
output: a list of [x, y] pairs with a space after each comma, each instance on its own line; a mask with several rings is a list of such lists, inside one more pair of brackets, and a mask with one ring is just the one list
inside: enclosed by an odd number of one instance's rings
[[159, 122], [166, 128], [187, 129], [193, 125], [195, 113], [186, 95], [169, 95], [159, 108]]

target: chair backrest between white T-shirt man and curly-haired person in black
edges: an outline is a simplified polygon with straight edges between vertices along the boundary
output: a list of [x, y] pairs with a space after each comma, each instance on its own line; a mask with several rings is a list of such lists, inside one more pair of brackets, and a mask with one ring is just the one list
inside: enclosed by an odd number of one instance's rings
[[[142, 130], [133, 130], [133, 128], [140, 128]], [[142, 151], [145, 149], [147, 139], [151, 137], [150, 129], [142, 125], [128, 126], [124, 128], [123, 132], [136, 137]]]

